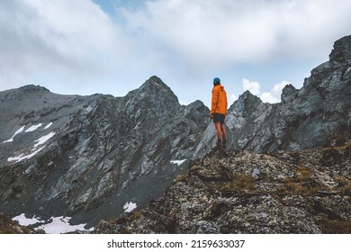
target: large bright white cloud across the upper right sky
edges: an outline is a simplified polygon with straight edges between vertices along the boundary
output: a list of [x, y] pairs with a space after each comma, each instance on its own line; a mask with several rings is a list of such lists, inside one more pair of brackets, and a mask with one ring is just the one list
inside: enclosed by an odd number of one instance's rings
[[[347, 0], [338, 4], [331, 0], [169, 0], [149, 1], [138, 12], [120, 8], [119, 14], [130, 30], [139, 31], [140, 38], [151, 35], [184, 63], [214, 67], [294, 57], [296, 47], [299, 56], [324, 57], [320, 49], [329, 50], [334, 40], [349, 31], [350, 8]], [[330, 28], [328, 36], [325, 27]], [[312, 51], [313, 46], [320, 49]]]

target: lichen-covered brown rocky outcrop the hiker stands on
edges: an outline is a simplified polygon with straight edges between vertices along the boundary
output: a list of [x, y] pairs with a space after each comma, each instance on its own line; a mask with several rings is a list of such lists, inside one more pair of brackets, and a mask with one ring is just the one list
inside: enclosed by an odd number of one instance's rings
[[148, 208], [95, 233], [350, 233], [351, 143], [194, 161]]

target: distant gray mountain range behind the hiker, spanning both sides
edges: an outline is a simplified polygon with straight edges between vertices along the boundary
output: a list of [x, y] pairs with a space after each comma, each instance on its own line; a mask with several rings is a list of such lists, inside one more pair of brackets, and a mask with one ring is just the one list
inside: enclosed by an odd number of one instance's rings
[[[0, 92], [0, 211], [39, 227], [113, 219], [164, 195], [215, 142], [209, 109], [181, 105], [157, 76], [124, 97], [53, 94], [26, 85]], [[342, 145], [351, 138], [351, 36], [281, 103], [246, 92], [229, 107], [229, 148], [255, 153]], [[244, 160], [245, 161], [245, 160]], [[348, 174], [344, 175], [349, 180]], [[136, 208], [136, 210], [134, 210]]]

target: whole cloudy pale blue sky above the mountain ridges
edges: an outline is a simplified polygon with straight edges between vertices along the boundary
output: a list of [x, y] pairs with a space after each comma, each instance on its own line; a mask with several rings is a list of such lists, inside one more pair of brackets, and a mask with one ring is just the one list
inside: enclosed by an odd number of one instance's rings
[[159, 76], [181, 103], [279, 102], [351, 34], [351, 0], [0, 1], [0, 91], [123, 96]]

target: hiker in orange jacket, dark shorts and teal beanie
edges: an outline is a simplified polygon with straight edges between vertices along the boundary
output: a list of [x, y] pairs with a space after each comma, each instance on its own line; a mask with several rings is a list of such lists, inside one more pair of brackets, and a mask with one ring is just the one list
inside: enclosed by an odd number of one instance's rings
[[220, 85], [220, 78], [215, 77], [213, 79], [211, 99], [211, 118], [213, 119], [217, 135], [217, 146], [215, 149], [225, 148], [227, 144], [227, 132], [224, 124], [227, 107], [227, 93], [224, 90], [224, 86]]

